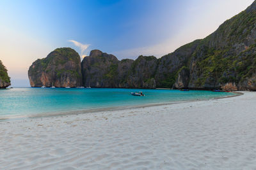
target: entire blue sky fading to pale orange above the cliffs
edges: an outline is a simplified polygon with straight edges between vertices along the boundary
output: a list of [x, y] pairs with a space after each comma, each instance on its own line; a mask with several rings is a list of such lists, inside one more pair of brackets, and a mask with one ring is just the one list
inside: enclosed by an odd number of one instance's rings
[[90, 50], [118, 59], [161, 57], [245, 10], [253, 0], [0, 1], [0, 60], [12, 87], [29, 87], [28, 69], [56, 48], [81, 59]]

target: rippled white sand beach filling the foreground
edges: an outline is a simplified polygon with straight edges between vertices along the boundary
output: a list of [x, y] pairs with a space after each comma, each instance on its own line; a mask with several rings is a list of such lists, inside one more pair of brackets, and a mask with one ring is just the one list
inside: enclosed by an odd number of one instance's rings
[[0, 122], [1, 169], [256, 169], [256, 92]]

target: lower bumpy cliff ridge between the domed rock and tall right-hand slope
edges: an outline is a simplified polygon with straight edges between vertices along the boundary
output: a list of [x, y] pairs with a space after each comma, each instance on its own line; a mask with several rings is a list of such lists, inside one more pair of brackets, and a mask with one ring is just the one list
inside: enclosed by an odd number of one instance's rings
[[84, 86], [156, 88], [157, 59], [153, 56], [119, 61], [114, 55], [92, 50], [81, 65]]

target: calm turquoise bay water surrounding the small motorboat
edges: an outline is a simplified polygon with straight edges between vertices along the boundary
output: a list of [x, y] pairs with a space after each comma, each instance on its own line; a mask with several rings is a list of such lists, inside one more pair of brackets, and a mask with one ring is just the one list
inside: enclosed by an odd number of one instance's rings
[[144, 97], [131, 96], [138, 89], [15, 88], [0, 90], [0, 118], [61, 111], [119, 106], [173, 103], [232, 96], [232, 93], [190, 90], [142, 90]]

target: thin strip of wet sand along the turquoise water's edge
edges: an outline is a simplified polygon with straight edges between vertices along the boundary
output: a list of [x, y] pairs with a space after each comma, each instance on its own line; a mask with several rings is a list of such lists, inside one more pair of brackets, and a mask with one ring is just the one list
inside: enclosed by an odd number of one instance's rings
[[[163, 89], [159, 89], [159, 90], [163, 90]], [[235, 95], [224, 96], [224, 97], [214, 97], [212, 99], [225, 99], [228, 97], [237, 97], [237, 96], [243, 95], [243, 92], [231, 92], [231, 93]], [[122, 110], [136, 109], [136, 108], [166, 106], [166, 105], [179, 104], [179, 103], [193, 103], [196, 101], [209, 101], [212, 99], [196, 99], [191, 101], [177, 101], [172, 103], [152, 103], [152, 104], [142, 104], [142, 105], [136, 105], [136, 106], [116, 106], [116, 107], [97, 108], [97, 109], [88, 109], [88, 110], [57, 111], [57, 112], [51, 112], [51, 113], [47, 112], [47, 113], [31, 114], [31, 115], [13, 115], [13, 116], [11, 115], [8, 117], [0, 117], [0, 122], [6, 121], [6, 120], [16, 120], [16, 119], [24, 119], [24, 118], [61, 117], [65, 115], [81, 115], [86, 113], [99, 113], [102, 111], [122, 111]]]

